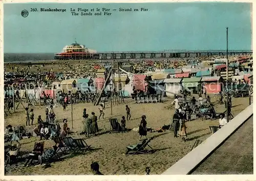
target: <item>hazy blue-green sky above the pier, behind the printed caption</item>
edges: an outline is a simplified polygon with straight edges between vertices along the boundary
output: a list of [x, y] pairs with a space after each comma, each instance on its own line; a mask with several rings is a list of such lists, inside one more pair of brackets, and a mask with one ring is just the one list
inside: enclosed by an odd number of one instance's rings
[[[40, 12], [40, 8], [67, 11]], [[95, 12], [72, 16], [71, 8], [117, 10], [110, 16]], [[119, 12], [119, 8], [148, 11]], [[22, 10], [29, 15], [22, 17]], [[61, 52], [75, 40], [98, 52], [225, 50], [226, 27], [229, 50], [252, 49], [249, 3], [5, 4], [4, 52]]]

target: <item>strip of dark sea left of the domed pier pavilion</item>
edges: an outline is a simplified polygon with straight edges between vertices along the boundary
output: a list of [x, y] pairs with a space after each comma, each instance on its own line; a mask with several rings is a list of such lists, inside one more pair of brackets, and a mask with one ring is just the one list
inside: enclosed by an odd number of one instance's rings
[[54, 60], [54, 53], [5, 53], [4, 62]]

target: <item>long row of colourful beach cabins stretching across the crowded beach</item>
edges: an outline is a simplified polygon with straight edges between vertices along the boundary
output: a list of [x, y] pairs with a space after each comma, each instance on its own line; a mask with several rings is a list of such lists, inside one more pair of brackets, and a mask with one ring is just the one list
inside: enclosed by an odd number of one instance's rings
[[[220, 66], [220, 65], [218, 65]], [[217, 69], [219, 69], [217, 66]], [[180, 93], [180, 90], [188, 90], [192, 93], [202, 93], [203, 89], [207, 94], [218, 94], [223, 90], [223, 81], [226, 79], [225, 67], [221, 67], [221, 75], [215, 76], [215, 69], [210, 68], [183, 68], [183, 69], [168, 69], [168, 70], [156, 70], [155, 72], [147, 72], [145, 74], [120, 74], [120, 78], [115, 75], [113, 87], [116, 90], [119, 89], [119, 93], [123, 97], [130, 97], [133, 93], [133, 89], [146, 90], [154, 89], [156, 94], [159, 92], [166, 92], [166, 96], [173, 96]], [[67, 79], [59, 82], [52, 82], [52, 87], [35, 88], [28, 90], [20, 90], [20, 96], [27, 91], [28, 97], [39, 99], [44, 91], [46, 95], [50, 95], [51, 98], [56, 98], [56, 93], [62, 91], [68, 93], [69, 91], [75, 93], [77, 90], [83, 92], [98, 92], [104, 84], [105, 70], [98, 70], [96, 78], [78, 78]], [[239, 72], [234, 75], [234, 71], [228, 71], [229, 78], [232, 80], [241, 80], [241, 82], [247, 82], [252, 84], [252, 73]], [[118, 88], [119, 84], [119, 88]], [[114, 86], [115, 85], [115, 86]], [[105, 91], [111, 91], [112, 85], [106, 85]], [[12, 95], [12, 90], [8, 91], [9, 95]]]

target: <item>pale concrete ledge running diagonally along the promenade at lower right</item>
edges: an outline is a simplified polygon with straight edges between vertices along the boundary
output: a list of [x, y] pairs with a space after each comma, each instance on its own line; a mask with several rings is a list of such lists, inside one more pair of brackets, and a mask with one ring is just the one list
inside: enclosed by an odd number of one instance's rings
[[239, 128], [253, 114], [253, 104], [240, 112], [224, 127], [212, 134], [203, 143], [187, 153], [181, 160], [168, 168], [162, 175], [186, 175], [193, 171], [208, 155], [220, 146], [230, 134]]

